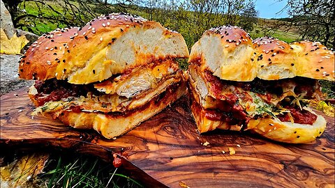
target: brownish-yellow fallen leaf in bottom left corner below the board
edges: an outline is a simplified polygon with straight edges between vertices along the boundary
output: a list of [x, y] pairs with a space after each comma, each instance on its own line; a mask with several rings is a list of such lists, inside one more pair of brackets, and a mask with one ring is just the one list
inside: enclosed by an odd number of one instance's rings
[[24, 155], [6, 166], [1, 166], [1, 188], [34, 187], [36, 175], [42, 173], [49, 155]]

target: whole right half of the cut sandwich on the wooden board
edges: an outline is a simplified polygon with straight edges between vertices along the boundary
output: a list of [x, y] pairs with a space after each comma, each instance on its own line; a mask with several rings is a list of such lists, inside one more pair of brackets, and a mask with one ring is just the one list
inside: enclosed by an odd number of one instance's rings
[[200, 133], [249, 130], [308, 143], [324, 132], [325, 118], [306, 107], [306, 100], [322, 98], [318, 79], [334, 81], [334, 52], [320, 42], [252, 40], [237, 26], [221, 26], [204, 32], [188, 61]]

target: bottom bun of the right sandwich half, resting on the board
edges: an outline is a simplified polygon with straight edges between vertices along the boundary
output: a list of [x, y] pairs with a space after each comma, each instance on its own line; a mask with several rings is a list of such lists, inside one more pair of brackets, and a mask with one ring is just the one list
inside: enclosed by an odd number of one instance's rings
[[[191, 111], [200, 133], [215, 129], [241, 130], [241, 125], [228, 125], [222, 120], [207, 118], [206, 110], [195, 101], [191, 104]], [[306, 110], [314, 113], [311, 109], [306, 108]], [[318, 116], [313, 125], [281, 122], [275, 118], [258, 118], [257, 120], [251, 119], [245, 130], [250, 130], [274, 141], [308, 143], [314, 141], [325, 131], [326, 124], [327, 122], [322, 116]]]

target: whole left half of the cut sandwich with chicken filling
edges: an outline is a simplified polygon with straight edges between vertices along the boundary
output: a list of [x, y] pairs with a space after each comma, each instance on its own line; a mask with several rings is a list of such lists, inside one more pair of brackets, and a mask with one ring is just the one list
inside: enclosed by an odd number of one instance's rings
[[112, 13], [40, 36], [20, 59], [19, 75], [36, 80], [29, 89], [34, 115], [112, 139], [184, 95], [177, 59], [188, 55], [181, 34]]

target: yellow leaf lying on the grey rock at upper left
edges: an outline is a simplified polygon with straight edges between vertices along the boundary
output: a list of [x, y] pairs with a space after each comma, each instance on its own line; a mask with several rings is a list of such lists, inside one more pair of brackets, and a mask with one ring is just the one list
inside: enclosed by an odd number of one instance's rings
[[21, 49], [28, 44], [26, 36], [17, 37], [16, 34], [8, 39], [5, 31], [1, 31], [0, 53], [1, 54], [20, 54]]

